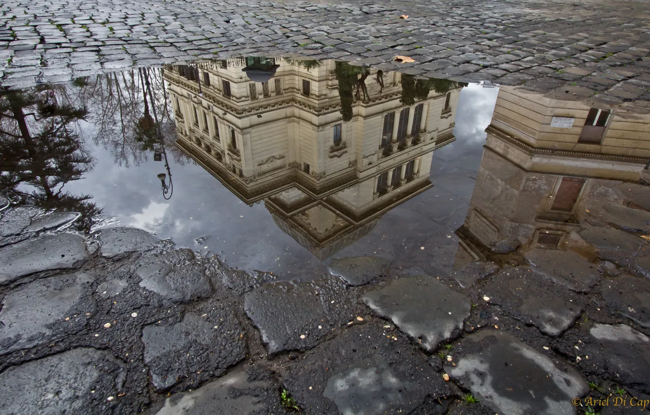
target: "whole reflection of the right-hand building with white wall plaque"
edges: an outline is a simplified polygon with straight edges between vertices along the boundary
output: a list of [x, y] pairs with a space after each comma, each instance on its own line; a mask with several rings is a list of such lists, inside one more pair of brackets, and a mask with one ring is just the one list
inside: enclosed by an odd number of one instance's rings
[[639, 184], [650, 181], [650, 106], [611, 105], [581, 97], [581, 89], [500, 87], [469, 211], [456, 231], [455, 269], [484, 260], [486, 248], [508, 238], [524, 250], [584, 252], [577, 232], [590, 215], [650, 209], [630, 200], [650, 192]]

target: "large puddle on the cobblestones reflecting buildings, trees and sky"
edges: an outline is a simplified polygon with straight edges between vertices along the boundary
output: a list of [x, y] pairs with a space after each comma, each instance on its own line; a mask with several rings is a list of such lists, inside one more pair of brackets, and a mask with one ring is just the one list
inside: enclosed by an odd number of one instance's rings
[[645, 232], [619, 187], [650, 111], [578, 92], [265, 57], [8, 89], [2, 191], [284, 279], [352, 256], [448, 274], [517, 245], [592, 260], [581, 221]]

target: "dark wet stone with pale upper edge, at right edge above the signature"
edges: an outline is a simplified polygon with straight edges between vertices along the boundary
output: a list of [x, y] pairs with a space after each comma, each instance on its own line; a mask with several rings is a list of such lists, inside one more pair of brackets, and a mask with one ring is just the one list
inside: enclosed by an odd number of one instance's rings
[[[650, 394], [650, 339], [627, 325], [594, 324], [582, 347], [586, 366], [603, 368], [610, 379]], [[591, 369], [588, 368], [588, 369]]]

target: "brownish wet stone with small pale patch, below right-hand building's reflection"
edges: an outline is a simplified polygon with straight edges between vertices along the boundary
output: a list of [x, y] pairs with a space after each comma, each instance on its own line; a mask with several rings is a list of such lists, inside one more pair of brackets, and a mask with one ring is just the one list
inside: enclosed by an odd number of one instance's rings
[[487, 282], [483, 292], [491, 303], [549, 336], [569, 328], [584, 307], [573, 291], [526, 267], [503, 269]]

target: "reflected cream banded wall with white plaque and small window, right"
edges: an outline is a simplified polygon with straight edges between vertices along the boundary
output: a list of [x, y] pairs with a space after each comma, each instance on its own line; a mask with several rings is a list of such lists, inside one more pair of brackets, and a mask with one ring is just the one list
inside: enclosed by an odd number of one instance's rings
[[584, 89], [501, 87], [487, 148], [528, 171], [639, 180], [650, 159], [647, 101], [612, 106]]

